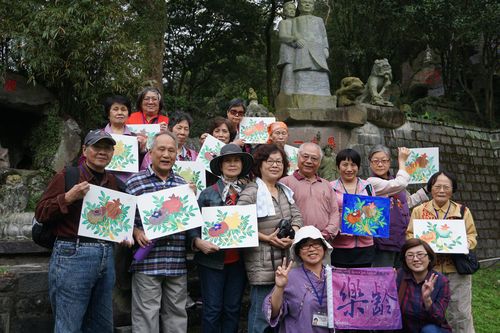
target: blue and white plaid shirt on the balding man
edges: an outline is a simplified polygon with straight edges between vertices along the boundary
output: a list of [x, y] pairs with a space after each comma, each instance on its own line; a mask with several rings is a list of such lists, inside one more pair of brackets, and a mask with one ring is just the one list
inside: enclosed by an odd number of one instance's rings
[[[171, 187], [184, 185], [186, 181], [170, 173], [167, 180], [159, 178], [149, 166], [127, 181], [127, 193], [141, 195], [165, 190]], [[134, 226], [142, 229], [142, 221], [139, 210], [135, 213]], [[157, 239], [154, 247], [147, 257], [141, 261], [132, 261], [131, 272], [141, 272], [147, 275], [180, 276], [187, 274], [186, 268], [186, 233], [179, 232], [173, 235]]]

